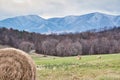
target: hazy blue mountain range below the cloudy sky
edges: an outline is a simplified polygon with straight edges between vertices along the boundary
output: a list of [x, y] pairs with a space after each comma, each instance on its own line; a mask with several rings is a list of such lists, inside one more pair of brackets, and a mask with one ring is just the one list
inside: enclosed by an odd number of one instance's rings
[[0, 26], [37, 33], [74, 33], [120, 26], [120, 16], [95, 12], [81, 16], [43, 19], [37, 15], [28, 15], [2, 20]]

